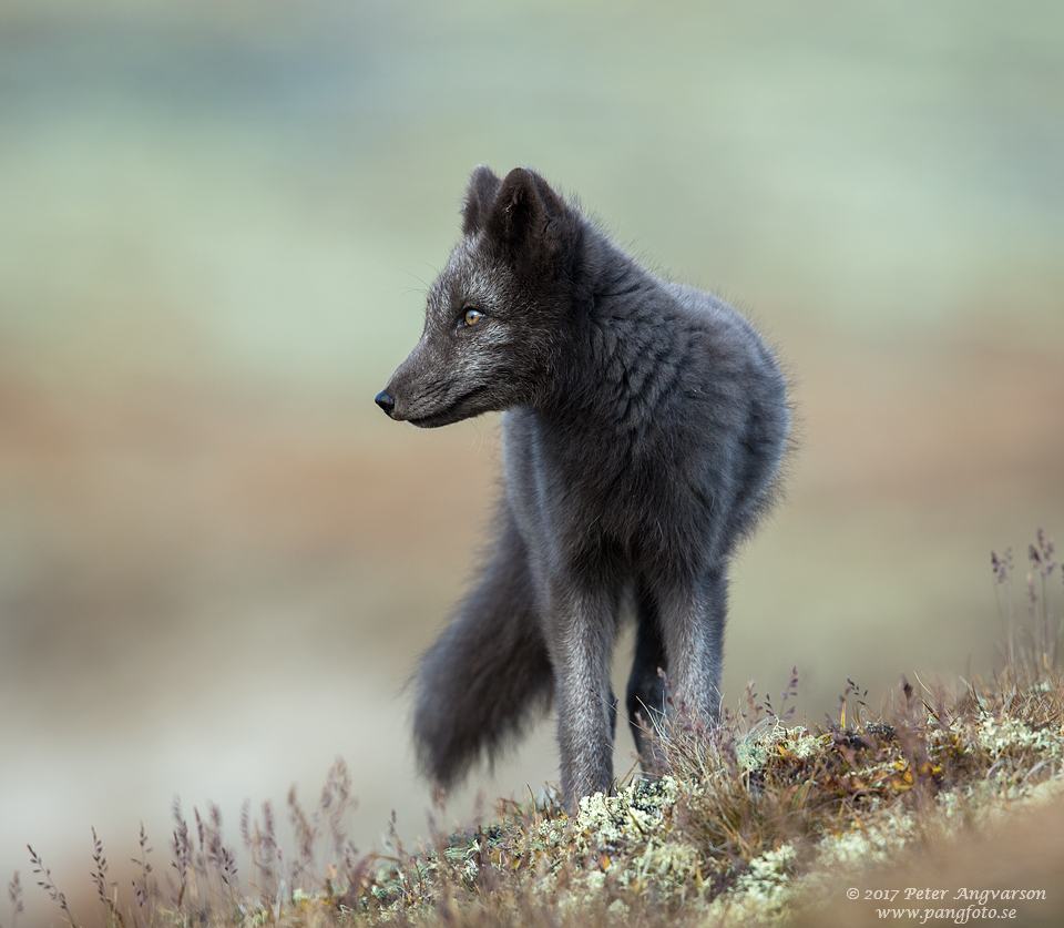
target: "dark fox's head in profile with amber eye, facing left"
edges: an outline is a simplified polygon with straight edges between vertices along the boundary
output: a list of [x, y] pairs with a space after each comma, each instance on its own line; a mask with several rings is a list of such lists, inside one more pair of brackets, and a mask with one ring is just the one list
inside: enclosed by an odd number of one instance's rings
[[421, 340], [377, 405], [429, 428], [541, 402], [573, 320], [582, 241], [580, 214], [539, 174], [478, 167]]

